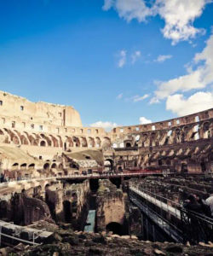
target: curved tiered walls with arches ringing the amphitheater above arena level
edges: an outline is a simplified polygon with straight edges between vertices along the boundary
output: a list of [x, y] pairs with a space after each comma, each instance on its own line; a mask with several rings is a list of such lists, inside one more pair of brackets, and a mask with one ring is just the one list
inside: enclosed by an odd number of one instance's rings
[[[106, 166], [212, 172], [213, 109], [148, 125], [83, 127], [72, 107], [0, 92], [1, 170], [8, 177], [66, 169], [63, 153], [100, 150]], [[36, 175], [36, 172], [35, 172]]]

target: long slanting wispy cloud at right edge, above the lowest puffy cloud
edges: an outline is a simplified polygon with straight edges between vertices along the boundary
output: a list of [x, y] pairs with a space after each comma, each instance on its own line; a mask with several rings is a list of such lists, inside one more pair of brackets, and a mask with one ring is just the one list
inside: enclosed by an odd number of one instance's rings
[[[196, 54], [193, 63], [187, 66], [187, 74], [169, 81], [158, 82], [158, 90], [151, 103], [158, 102], [177, 91], [188, 91], [201, 89], [213, 84], [213, 35], [206, 42], [202, 52]], [[200, 61], [202, 61], [200, 63]], [[195, 65], [195, 68], [193, 67]]]

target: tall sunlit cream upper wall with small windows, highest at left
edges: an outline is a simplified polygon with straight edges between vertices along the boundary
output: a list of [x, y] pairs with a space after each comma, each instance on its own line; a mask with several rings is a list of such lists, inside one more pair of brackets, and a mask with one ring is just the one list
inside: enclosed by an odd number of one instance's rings
[[[17, 129], [27, 128], [31, 124], [82, 126], [79, 113], [72, 107], [46, 102], [29, 102], [26, 98], [0, 91], [1, 112], [5, 123], [9, 119], [17, 122]], [[3, 117], [2, 117], [3, 118]], [[25, 122], [25, 123], [24, 123]], [[40, 128], [40, 131], [43, 129]], [[44, 127], [43, 127], [44, 128]], [[46, 128], [47, 131], [47, 128]]]

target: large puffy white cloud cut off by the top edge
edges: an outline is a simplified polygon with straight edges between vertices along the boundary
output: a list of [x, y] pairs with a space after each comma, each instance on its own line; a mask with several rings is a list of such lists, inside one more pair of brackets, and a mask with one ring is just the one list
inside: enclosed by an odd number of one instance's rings
[[155, 0], [149, 6], [145, 0], [105, 0], [103, 9], [115, 9], [119, 17], [130, 21], [145, 21], [148, 16], [160, 15], [165, 26], [164, 38], [176, 44], [182, 40], [194, 38], [204, 29], [193, 26], [193, 21], [202, 15], [204, 7], [211, 0]]

